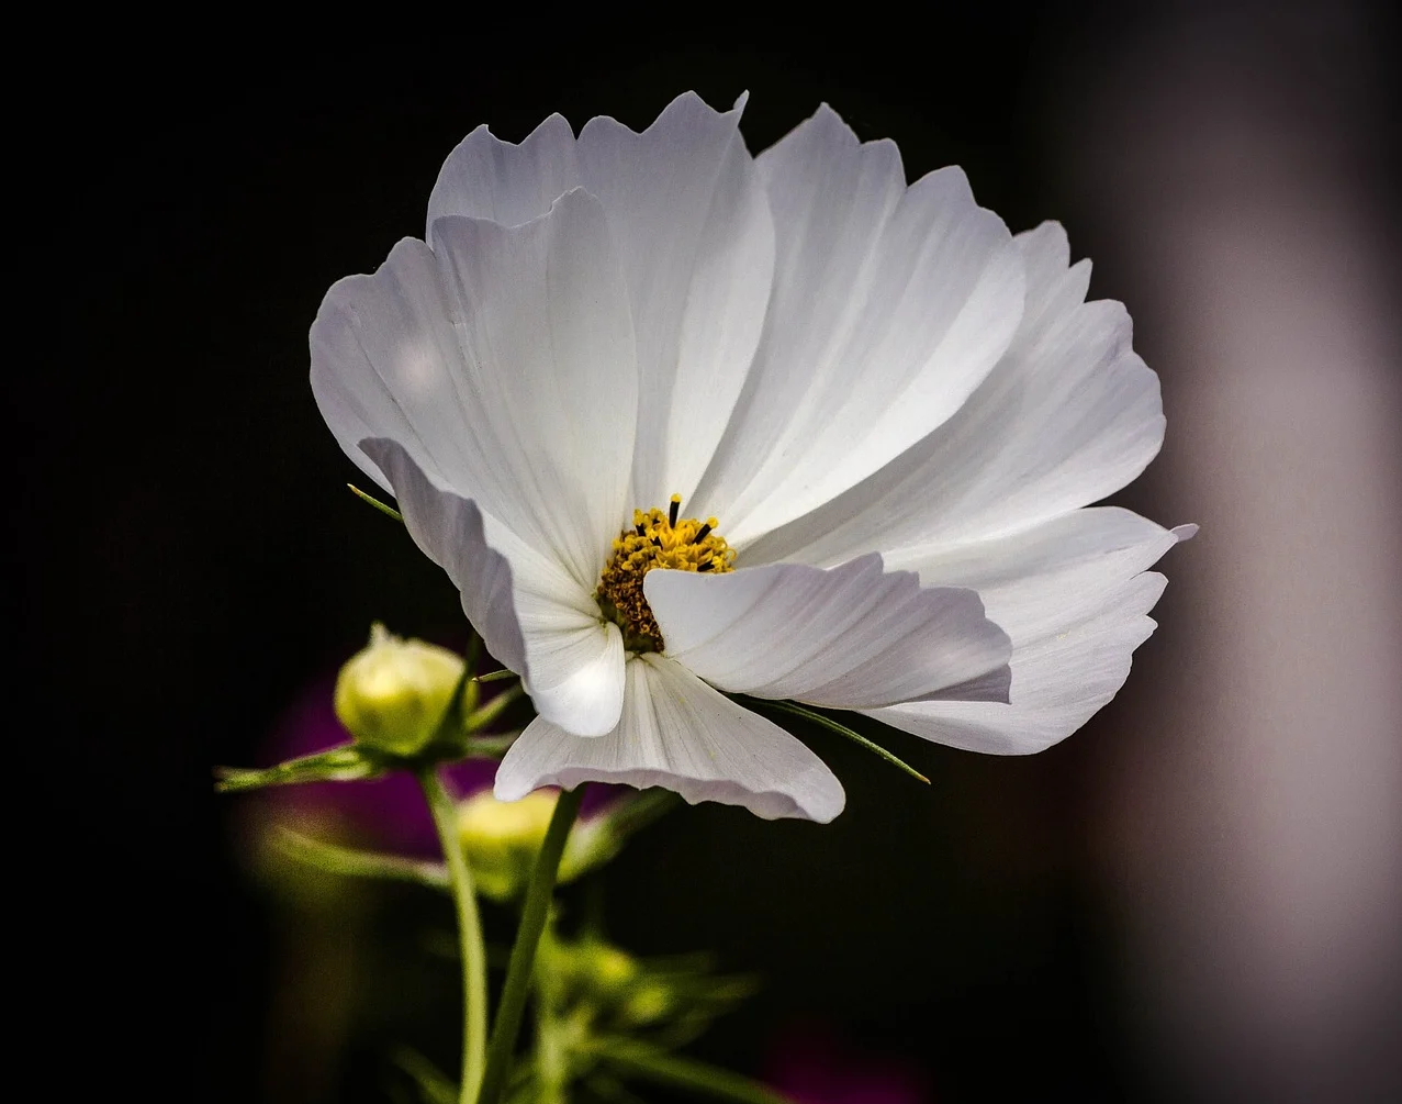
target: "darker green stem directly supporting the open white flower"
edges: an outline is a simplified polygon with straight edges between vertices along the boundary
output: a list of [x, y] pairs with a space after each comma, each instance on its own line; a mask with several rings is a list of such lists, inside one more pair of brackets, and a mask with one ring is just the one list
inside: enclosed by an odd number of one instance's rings
[[522, 909], [522, 923], [516, 929], [516, 943], [512, 944], [512, 961], [506, 967], [506, 985], [502, 988], [501, 1004], [496, 1009], [496, 1023], [492, 1024], [492, 1042], [486, 1051], [486, 1073], [482, 1076], [482, 1094], [478, 1104], [496, 1104], [506, 1087], [506, 1075], [512, 1066], [512, 1051], [520, 1031], [522, 1014], [526, 1011], [526, 995], [530, 992], [531, 969], [536, 964], [536, 948], [545, 930], [551, 896], [555, 891], [555, 873], [559, 857], [565, 853], [565, 840], [579, 815], [579, 800], [585, 786], [562, 793], [555, 802], [555, 812], [545, 830], [545, 842], [536, 856], [530, 885], [526, 889], [526, 905]]

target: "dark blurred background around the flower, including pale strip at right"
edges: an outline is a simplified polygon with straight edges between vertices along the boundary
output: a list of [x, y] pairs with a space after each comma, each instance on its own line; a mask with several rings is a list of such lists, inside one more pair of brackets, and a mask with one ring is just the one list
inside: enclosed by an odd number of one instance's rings
[[70, 825], [83, 871], [59, 878], [77, 899], [34, 898], [81, 967], [45, 986], [83, 1059], [53, 1076], [311, 1104], [388, 1098], [400, 1042], [451, 1065], [451, 964], [421, 945], [446, 908], [279, 891], [262, 807], [212, 793], [373, 619], [464, 638], [446, 579], [345, 491], [306, 334], [335, 279], [422, 233], [479, 122], [641, 129], [694, 87], [750, 90], [751, 150], [826, 100], [911, 178], [958, 163], [1014, 230], [1060, 219], [1164, 386], [1164, 452], [1116, 501], [1202, 534], [1162, 565], [1127, 687], [1066, 743], [890, 732], [927, 791], [805, 734], [847, 786], [833, 826], [684, 809], [590, 908], [638, 952], [760, 975], [695, 1052], [820, 1062], [815, 1104], [1402, 1098], [1398, 25], [1359, 0], [1133, 7], [861, 11], [820, 43], [719, 8], [576, 10], [409, 46], [55, 58], [17, 101], [57, 320], [17, 366], [36, 463], [11, 548], [63, 756], [35, 797], [79, 787], [28, 828]]

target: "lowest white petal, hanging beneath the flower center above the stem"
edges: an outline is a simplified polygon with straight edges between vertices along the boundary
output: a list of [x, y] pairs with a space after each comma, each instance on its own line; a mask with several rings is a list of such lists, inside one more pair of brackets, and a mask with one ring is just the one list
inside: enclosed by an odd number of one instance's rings
[[845, 802], [833, 772], [799, 741], [655, 654], [628, 662], [622, 718], [608, 735], [580, 739], [533, 721], [502, 759], [496, 797], [582, 781], [663, 786], [693, 804], [743, 805], [765, 819], [826, 823]]

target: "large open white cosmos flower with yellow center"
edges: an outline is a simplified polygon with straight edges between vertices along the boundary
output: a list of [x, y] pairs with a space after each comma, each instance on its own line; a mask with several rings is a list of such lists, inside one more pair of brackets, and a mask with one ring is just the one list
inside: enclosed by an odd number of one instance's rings
[[831, 772], [728, 693], [1035, 752], [1154, 627], [1179, 534], [1087, 505], [1158, 452], [1158, 379], [1061, 229], [1014, 237], [958, 168], [907, 187], [826, 107], [751, 157], [742, 108], [478, 128], [428, 241], [313, 325], [328, 425], [538, 713], [501, 798], [830, 821]]

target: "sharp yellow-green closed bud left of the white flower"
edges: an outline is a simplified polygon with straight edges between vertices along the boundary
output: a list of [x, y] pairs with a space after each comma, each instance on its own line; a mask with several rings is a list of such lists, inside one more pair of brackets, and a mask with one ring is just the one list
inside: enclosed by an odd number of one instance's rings
[[461, 678], [461, 657], [376, 623], [336, 678], [336, 717], [362, 743], [414, 755], [433, 738]]

